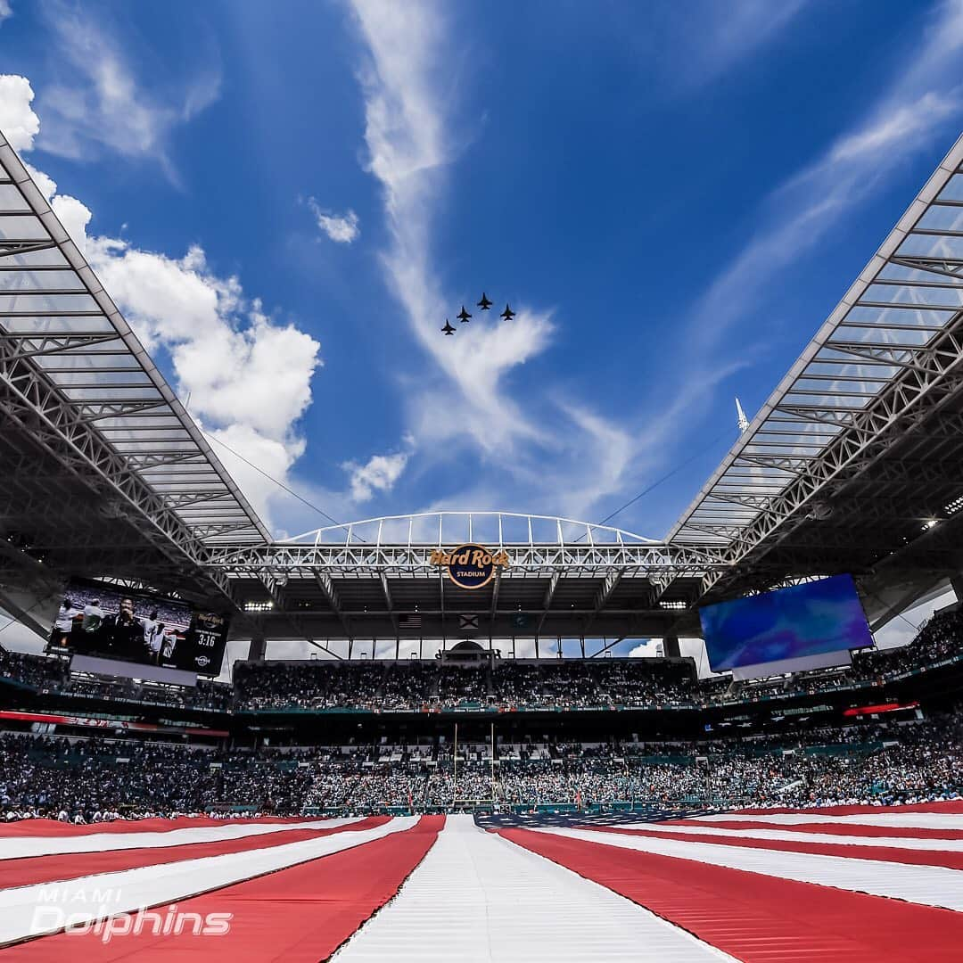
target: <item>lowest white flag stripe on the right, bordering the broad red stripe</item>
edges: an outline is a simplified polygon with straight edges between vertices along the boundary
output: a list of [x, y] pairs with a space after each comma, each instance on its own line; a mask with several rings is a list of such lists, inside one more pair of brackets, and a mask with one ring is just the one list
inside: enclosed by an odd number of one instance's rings
[[869, 893], [873, 896], [906, 899], [925, 906], [963, 909], [963, 872], [942, 866], [912, 866], [875, 859], [846, 859], [815, 853], [785, 852], [777, 849], [743, 848], [714, 843], [689, 843], [683, 840], [649, 836], [622, 836], [618, 833], [585, 829], [532, 827], [536, 833], [568, 836], [586, 843], [636, 849], [676, 859], [692, 859], [731, 870], [761, 872], [802, 883], [818, 883], [837, 889]]

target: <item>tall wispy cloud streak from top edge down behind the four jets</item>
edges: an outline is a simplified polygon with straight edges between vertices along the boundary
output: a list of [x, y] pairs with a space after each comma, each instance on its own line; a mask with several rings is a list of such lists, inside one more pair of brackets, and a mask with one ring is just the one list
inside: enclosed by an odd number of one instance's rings
[[368, 48], [360, 70], [365, 142], [392, 237], [383, 255], [390, 286], [421, 347], [476, 414], [466, 429], [482, 447], [534, 436], [536, 429], [508, 400], [502, 381], [546, 347], [548, 317], [520, 311], [512, 323], [475, 325], [445, 344], [437, 338], [447, 299], [431, 264], [430, 231], [446, 188], [446, 167], [455, 157], [441, 96], [446, 50], [441, 9], [390, 0], [355, 0], [353, 9]]

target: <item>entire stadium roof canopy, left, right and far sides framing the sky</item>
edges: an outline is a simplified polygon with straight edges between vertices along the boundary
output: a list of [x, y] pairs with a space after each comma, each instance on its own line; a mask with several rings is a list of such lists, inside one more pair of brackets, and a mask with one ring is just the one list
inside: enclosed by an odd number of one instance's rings
[[[0, 136], [0, 604], [29, 622], [65, 577], [110, 575], [233, 604], [242, 636], [444, 638], [467, 616], [620, 638], [851, 571], [881, 623], [963, 570], [961, 161], [963, 140], [664, 541], [510, 512], [273, 541]], [[430, 553], [465, 541], [508, 568], [458, 588]]]

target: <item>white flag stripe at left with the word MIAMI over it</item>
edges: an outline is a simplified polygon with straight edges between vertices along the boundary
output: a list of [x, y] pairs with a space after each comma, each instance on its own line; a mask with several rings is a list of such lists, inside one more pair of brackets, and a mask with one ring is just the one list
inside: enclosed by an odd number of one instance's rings
[[3, 890], [0, 891], [0, 946], [56, 932], [63, 922], [56, 922], [57, 914], [53, 910], [76, 914], [75, 922], [79, 923], [81, 919], [96, 920], [144, 906], [166, 905], [403, 832], [417, 821], [417, 817], [403, 817], [374, 829], [348, 829], [301, 843]]

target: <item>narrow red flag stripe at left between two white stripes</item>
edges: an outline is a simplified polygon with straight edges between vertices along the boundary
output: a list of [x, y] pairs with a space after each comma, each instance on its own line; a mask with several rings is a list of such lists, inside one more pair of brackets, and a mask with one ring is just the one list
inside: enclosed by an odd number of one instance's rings
[[67, 853], [55, 856], [32, 856], [0, 861], [0, 890], [13, 886], [31, 886], [92, 876], [101, 872], [136, 870], [143, 866], [162, 866], [202, 856], [225, 856], [232, 852], [248, 852], [269, 846], [300, 843], [318, 836], [346, 831], [360, 832], [384, 825], [388, 816], [349, 822], [329, 829], [293, 829], [265, 836], [243, 836], [241, 839], [217, 840], [211, 843], [189, 843], [160, 849], [105, 849], [100, 852]]

